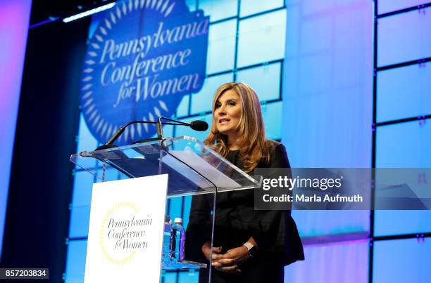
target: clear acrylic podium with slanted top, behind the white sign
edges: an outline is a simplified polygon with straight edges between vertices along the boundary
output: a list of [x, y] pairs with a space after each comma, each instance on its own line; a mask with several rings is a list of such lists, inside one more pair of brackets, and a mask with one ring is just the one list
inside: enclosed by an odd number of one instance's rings
[[[211, 246], [215, 199], [218, 192], [247, 190], [261, 186], [261, 176], [249, 176], [204, 143], [187, 136], [152, 140], [146, 143], [113, 147], [94, 152], [84, 151], [73, 154], [70, 161], [91, 173], [95, 177], [95, 182], [167, 173], [168, 197], [166, 201], [167, 204], [177, 200], [182, 202], [181, 216], [184, 218], [185, 228], [187, 228], [189, 220], [188, 211], [192, 205], [192, 197], [206, 195], [208, 202], [212, 202], [214, 208], [210, 219], [212, 223], [208, 225], [211, 227], [208, 230], [209, 235], [204, 235], [206, 239], [211, 239]], [[179, 197], [182, 199], [177, 199]], [[169, 206], [166, 205], [166, 207]], [[171, 215], [170, 217], [173, 219], [180, 217], [180, 215]], [[187, 246], [185, 251], [187, 254]], [[163, 277], [168, 272], [206, 268], [211, 266], [211, 262], [193, 261], [187, 257], [185, 260], [162, 257], [161, 266], [161, 277]]]

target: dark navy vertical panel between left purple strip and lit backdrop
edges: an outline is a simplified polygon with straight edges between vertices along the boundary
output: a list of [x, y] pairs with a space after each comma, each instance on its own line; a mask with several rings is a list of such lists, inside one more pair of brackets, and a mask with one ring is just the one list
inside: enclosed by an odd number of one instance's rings
[[[74, 1], [49, 2], [63, 3], [33, 1], [30, 26], [60, 15]], [[65, 270], [69, 157], [76, 150], [77, 93], [90, 20], [56, 20], [28, 33], [0, 265], [49, 268], [49, 282], [61, 282]]]

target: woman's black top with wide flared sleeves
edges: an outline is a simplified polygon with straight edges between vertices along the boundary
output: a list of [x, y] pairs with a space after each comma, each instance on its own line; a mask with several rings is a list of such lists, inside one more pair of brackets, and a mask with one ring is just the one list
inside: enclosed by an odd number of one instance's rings
[[[244, 169], [238, 150], [230, 151], [226, 159]], [[284, 145], [273, 142], [270, 163], [261, 161], [256, 168], [290, 168]], [[249, 175], [253, 176], [254, 171], [249, 172]], [[211, 235], [212, 204], [212, 195], [197, 195], [192, 199], [186, 236], [188, 259], [206, 261], [201, 246]], [[289, 210], [255, 210], [254, 190], [220, 192], [215, 207], [213, 246], [222, 246], [227, 251], [242, 246], [253, 236], [262, 256], [278, 258], [282, 265], [304, 260], [301, 239]]]

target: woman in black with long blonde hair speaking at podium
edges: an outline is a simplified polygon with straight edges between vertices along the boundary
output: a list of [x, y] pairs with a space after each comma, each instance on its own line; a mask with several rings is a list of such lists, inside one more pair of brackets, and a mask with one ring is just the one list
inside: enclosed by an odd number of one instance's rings
[[[285, 147], [265, 138], [261, 104], [244, 83], [215, 91], [204, 143], [250, 175], [256, 168], [290, 168]], [[255, 210], [253, 190], [220, 192], [215, 208], [211, 282], [283, 282], [285, 265], [304, 260], [289, 210]], [[195, 260], [209, 261], [211, 242], [198, 235], [210, 219], [211, 202], [194, 196], [186, 239], [187, 250], [198, 251]], [[199, 282], [208, 282], [208, 269], [201, 269]]]

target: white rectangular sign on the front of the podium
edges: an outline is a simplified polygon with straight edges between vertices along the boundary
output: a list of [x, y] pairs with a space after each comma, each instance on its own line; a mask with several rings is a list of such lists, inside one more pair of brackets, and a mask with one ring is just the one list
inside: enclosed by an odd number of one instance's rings
[[168, 175], [95, 183], [85, 282], [160, 282]]

